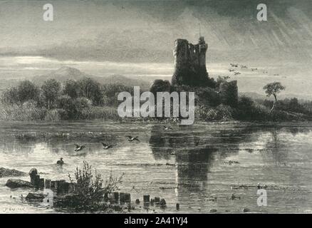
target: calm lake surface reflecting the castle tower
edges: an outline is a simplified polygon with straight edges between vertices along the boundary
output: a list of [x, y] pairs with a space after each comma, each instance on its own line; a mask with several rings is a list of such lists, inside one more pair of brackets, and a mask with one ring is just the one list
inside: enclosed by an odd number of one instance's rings
[[[312, 123], [0, 123], [0, 167], [41, 177], [68, 180], [83, 160], [102, 177], [123, 172], [121, 192], [132, 201], [142, 195], [165, 198], [166, 209], [135, 205], [135, 213], [312, 212]], [[125, 135], [139, 136], [128, 142]], [[100, 142], [114, 145], [103, 150]], [[87, 144], [76, 155], [77, 144]], [[63, 157], [65, 164], [56, 161]], [[229, 162], [234, 161], [234, 162]], [[11, 178], [11, 177], [10, 177]], [[20, 178], [20, 177], [14, 177]], [[22, 202], [31, 190], [10, 190], [0, 178], [1, 213], [55, 213], [41, 204]], [[29, 177], [21, 177], [29, 180]], [[267, 185], [267, 206], [256, 203], [256, 185]], [[239, 186], [241, 185], [241, 186]], [[232, 199], [234, 194], [237, 199]], [[12, 195], [12, 198], [10, 197]], [[14, 199], [15, 198], [15, 199]]]

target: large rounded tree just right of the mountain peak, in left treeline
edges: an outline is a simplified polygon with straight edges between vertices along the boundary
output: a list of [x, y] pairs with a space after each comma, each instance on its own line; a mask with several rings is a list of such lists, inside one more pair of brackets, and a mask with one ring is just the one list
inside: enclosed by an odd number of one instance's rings
[[103, 102], [100, 83], [92, 78], [83, 78], [79, 81], [82, 96], [92, 100], [94, 105], [100, 105]]

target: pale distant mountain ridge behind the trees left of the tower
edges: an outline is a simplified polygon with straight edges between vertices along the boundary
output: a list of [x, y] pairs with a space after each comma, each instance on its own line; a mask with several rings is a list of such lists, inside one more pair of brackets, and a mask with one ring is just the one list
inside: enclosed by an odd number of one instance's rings
[[101, 84], [122, 84], [124, 86], [140, 86], [143, 90], [150, 88], [150, 81], [145, 81], [142, 78], [128, 78], [121, 75], [112, 75], [112, 76], [93, 76], [87, 73], [83, 73], [76, 68], [71, 68], [68, 66], [63, 66], [56, 71], [51, 71], [46, 75], [34, 76], [32, 81], [36, 82], [39, 85], [42, 85], [44, 81], [48, 79], [56, 79], [58, 81], [64, 82], [67, 80], [80, 80], [82, 78], [93, 78], [95, 81], [98, 81]]

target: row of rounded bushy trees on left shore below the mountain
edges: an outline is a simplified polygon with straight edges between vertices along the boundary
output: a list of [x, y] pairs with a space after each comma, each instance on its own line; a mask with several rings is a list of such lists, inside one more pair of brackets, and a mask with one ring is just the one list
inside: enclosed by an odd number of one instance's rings
[[[92, 78], [83, 78], [79, 81], [68, 80], [64, 83], [56, 79], [48, 79], [42, 86], [32, 81], [21, 81], [1, 95], [2, 103], [23, 106], [31, 102], [36, 107], [47, 109], [58, 108], [64, 100], [85, 99], [88, 103], [99, 105], [115, 105], [117, 95], [121, 91], [132, 91], [132, 88], [123, 85], [101, 85]], [[115, 99], [116, 98], [116, 99]]]

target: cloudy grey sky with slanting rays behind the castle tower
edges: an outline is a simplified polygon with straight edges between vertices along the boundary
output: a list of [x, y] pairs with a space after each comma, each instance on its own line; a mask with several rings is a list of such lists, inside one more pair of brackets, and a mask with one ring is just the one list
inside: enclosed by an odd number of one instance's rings
[[[43, 21], [46, 3], [53, 21]], [[259, 3], [268, 21], [256, 20]], [[310, 0], [0, 1], [0, 71], [32, 75], [69, 65], [98, 75], [169, 77], [175, 39], [195, 43], [200, 24], [211, 76], [229, 75], [235, 62], [259, 68], [230, 75], [242, 91], [281, 81], [287, 93], [312, 94], [311, 11]]]

